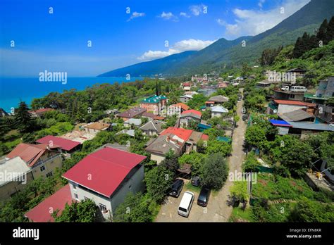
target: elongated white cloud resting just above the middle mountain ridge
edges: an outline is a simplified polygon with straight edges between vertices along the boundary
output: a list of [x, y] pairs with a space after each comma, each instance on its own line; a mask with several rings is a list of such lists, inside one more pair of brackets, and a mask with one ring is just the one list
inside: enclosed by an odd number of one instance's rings
[[156, 58], [163, 58], [166, 56], [170, 56], [171, 54], [178, 54], [183, 51], [190, 51], [190, 50], [201, 50], [204, 49], [206, 46], [209, 46], [212, 44], [214, 41], [210, 40], [199, 40], [199, 39], [187, 39], [187, 40], [182, 40], [180, 42], [175, 42], [173, 46], [171, 46], [168, 51], [147, 51], [145, 52], [142, 56], [138, 57], [137, 59], [140, 61], [151, 61]]

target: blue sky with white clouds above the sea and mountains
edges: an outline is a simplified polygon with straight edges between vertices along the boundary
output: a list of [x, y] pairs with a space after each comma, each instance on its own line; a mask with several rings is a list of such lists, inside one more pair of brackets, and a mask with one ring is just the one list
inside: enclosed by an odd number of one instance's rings
[[[1, 0], [0, 77], [68, 77], [256, 35], [309, 0]], [[283, 13], [282, 13], [283, 8]]]

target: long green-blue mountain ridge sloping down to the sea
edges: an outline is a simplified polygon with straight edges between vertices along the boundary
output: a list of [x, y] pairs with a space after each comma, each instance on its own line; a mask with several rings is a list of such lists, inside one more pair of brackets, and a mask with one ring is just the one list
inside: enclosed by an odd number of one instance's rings
[[[209, 70], [214, 70], [224, 64], [256, 63], [264, 49], [294, 44], [297, 37], [302, 36], [304, 32], [314, 33], [325, 18], [329, 20], [333, 15], [334, 0], [311, 0], [309, 4], [275, 27], [254, 37], [240, 37], [233, 41], [218, 39], [200, 51], [173, 54], [154, 61], [111, 70], [99, 76], [125, 76], [126, 74], [145, 76], [159, 73], [191, 75], [208, 73]], [[246, 41], [246, 46], [241, 45], [243, 40]]]

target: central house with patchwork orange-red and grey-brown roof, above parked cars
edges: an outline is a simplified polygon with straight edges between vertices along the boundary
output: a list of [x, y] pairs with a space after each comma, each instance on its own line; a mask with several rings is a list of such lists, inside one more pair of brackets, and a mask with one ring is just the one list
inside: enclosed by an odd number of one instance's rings
[[209, 137], [202, 132], [179, 127], [168, 127], [147, 146], [145, 151], [151, 153], [151, 160], [159, 164], [170, 151], [173, 151], [175, 156], [181, 156], [183, 153], [189, 153], [192, 150], [196, 151], [197, 144], [201, 139], [205, 141]]

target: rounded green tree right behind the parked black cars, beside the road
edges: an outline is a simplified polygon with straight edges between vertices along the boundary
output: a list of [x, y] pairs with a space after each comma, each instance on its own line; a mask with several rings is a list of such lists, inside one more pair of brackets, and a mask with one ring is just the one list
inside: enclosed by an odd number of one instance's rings
[[228, 177], [228, 165], [223, 154], [214, 153], [206, 158], [202, 170], [202, 185], [221, 189]]

